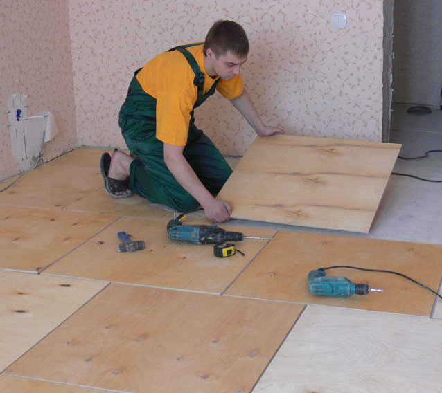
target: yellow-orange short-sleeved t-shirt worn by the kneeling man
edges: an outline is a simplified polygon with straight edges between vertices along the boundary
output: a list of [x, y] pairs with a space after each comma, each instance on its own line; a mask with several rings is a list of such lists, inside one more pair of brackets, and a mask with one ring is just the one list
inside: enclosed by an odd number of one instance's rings
[[[206, 94], [215, 81], [206, 73], [202, 45], [187, 50], [195, 57], [204, 73], [203, 91]], [[197, 86], [193, 84], [195, 73], [186, 57], [179, 51], [164, 52], [150, 60], [136, 80], [143, 91], [157, 99], [157, 139], [170, 145], [185, 146], [191, 111], [197, 100]], [[231, 80], [220, 80], [216, 89], [231, 100], [242, 94], [244, 82], [241, 75]]]

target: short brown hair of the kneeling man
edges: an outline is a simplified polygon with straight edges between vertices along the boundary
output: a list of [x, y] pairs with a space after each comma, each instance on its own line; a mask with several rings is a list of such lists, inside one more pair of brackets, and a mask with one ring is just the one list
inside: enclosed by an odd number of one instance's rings
[[215, 53], [218, 58], [231, 51], [233, 55], [245, 57], [249, 53], [249, 39], [240, 24], [233, 21], [216, 21], [210, 28], [204, 41], [204, 55], [207, 49]]

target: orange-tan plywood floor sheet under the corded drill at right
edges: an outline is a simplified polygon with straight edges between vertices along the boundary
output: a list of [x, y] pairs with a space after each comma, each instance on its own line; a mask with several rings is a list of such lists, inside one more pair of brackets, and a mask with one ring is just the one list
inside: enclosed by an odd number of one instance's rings
[[335, 298], [310, 293], [307, 275], [323, 266], [378, 268], [409, 275], [436, 290], [441, 280], [441, 253], [442, 246], [432, 244], [281, 231], [227, 294], [430, 316], [435, 296], [403, 277], [333, 269], [327, 275], [385, 290]]

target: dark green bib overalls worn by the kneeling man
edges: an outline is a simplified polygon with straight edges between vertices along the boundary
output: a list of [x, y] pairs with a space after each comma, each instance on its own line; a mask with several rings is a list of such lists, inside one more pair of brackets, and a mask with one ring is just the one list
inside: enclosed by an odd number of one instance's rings
[[[188, 46], [193, 45], [195, 44]], [[204, 74], [193, 55], [186, 50], [186, 46], [170, 49], [170, 51], [174, 50], [183, 53], [195, 73], [193, 83], [197, 86], [198, 92], [197, 100], [193, 106], [195, 109], [215, 92], [218, 80], [204, 95]], [[135, 75], [138, 72], [139, 70], [135, 72]], [[152, 203], [162, 203], [181, 212], [193, 210], [197, 208], [199, 203], [176, 181], [164, 162], [163, 142], [155, 136], [156, 105], [157, 100], [143, 91], [134, 76], [118, 120], [127, 147], [138, 158], [130, 165], [130, 189], [141, 197], [149, 199]], [[204, 187], [211, 194], [218, 194], [229, 178], [231, 168], [212, 141], [195, 126], [193, 110], [191, 111], [188, 138], [183, 156]]]

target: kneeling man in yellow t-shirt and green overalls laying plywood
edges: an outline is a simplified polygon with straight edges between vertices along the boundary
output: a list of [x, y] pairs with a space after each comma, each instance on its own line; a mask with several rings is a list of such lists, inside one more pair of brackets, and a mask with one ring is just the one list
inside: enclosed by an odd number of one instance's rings
[[229, 203], [213, 196], [231, 168], [195, 126], [193, 109], [216, 89], [258, 136], [284, 133], [264, 124], [244, 89], [240, 68], [248, 53], [244, 29], [233, 21], [217, 21], [204, 42], [170, 49], [135, 72], [118, 121], [131, 156], [114, 150], [112, 158], [105, 153], [100, 162], [112, 197], [136, 192], [180, 212], [201, 205], [213, 222], [230, 219]]

